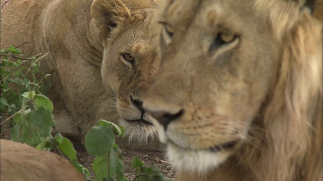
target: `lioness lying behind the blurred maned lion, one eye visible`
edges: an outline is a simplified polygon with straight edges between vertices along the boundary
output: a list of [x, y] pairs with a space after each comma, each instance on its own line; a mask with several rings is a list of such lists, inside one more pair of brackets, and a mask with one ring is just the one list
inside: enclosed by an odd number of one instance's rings
[[163, 151], [142, 99], [159, 59], [150, 41], [158, 1], [22, 0], [1, 12], [1, 47], [19, 46], [24, 57], [48, 53], [46, 95], [55, 130], [81, 135], [99, 119], [125, 127], [119, 146]]

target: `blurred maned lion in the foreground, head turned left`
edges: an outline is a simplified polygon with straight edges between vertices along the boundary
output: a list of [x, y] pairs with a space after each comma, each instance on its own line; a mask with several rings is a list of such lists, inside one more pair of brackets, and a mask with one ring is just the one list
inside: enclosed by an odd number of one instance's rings
[[303, 1], [169, 0], [154, 17], [143, 107], [177, 180], [322, 180], [319, 16]]

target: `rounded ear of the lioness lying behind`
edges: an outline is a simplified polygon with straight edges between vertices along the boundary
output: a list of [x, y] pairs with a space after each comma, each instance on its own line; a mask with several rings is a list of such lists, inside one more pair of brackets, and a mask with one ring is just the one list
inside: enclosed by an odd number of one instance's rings
[[119, 0], [94, 0], [91, 5], [91, 16], [98, 27], [101, 38], [123, 25], [129, 19], [129, 9]]

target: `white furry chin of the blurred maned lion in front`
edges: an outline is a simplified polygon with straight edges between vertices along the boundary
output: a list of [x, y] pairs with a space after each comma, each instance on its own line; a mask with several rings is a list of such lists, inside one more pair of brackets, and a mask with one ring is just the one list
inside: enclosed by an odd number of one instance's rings
[[218, 167], [230, 156], [225, 150], [183, 148], [173, 142], [168, 142], [167, 148], [167, 156], [176, 169], [201, 174]]

